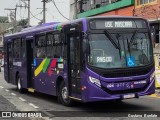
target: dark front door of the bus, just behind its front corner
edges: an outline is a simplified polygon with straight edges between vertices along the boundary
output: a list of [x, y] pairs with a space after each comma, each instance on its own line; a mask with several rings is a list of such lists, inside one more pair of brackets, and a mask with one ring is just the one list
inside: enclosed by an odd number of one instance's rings
[[67, 34], [69, 95], [77, 98], [81, 97], [79, 38], [79, 32]]

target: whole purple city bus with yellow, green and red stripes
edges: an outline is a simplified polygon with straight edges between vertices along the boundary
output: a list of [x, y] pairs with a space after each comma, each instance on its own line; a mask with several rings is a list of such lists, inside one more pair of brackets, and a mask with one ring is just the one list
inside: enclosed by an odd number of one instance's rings
[[66, 106], [155, 92], [149, 24], [136, 17], [47, 23], [5, 36], [4, 77], [19, 92], [58, 96]]

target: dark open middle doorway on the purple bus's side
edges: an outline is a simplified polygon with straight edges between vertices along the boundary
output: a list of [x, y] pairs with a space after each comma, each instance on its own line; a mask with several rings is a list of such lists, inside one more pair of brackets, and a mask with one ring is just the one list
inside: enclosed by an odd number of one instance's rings
[[26, 40], [26, 63], [27, 63], [27, 87], [34, 88], [34, 80], [33, 80], [33, 39]]

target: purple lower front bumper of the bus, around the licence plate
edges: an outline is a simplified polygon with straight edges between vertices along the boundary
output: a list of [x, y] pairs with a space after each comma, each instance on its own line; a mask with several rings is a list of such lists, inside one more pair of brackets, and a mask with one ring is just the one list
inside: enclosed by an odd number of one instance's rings
[[108, 100], [123, 100], [129, 98], [139, 98], [140, 96], [151, 95], [155, 93], [155, 80], [150, 81], [149, 85], [142, 91], [139, 92], [129, 92], [125, 94], [109, 94], [104, 91], [101, 87], [96, 86], [92, 83], [88, 83], [86, 88], [86, 95], [83, 96], [84, 102], [94, 102], [94, 101], [108, 101]]

